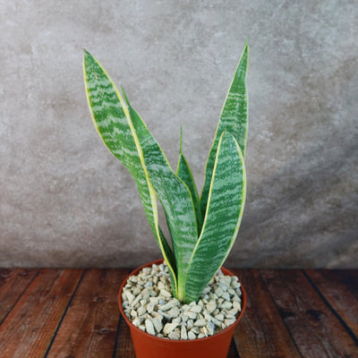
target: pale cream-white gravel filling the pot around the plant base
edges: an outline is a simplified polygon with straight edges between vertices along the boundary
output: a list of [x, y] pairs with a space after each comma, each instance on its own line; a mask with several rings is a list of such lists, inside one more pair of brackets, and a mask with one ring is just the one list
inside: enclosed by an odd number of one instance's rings
[[208, 337], [235, 322], [242, 307], [240, 286], [237, 277], [219, 270], [197, 303], [182, 304], [171, 294], [166, 264], [154, 264], [129, 277], [122, 293], [124, 313], [149, 335], [175, 340]]

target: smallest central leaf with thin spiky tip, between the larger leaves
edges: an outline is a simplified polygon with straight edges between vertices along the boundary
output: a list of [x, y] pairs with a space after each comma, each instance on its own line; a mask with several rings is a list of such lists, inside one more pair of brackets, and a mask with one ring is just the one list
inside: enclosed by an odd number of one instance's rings
[[202, 227], [202, 214], [200, 209], [200, 198], [198, 189], [194, 182], [194, 178], [192, 176], [192, 170], [186, 161], [186, 158], [183, 156], [183, 132], [182, 128], [180, 129], [180, 154], [178, 166], [176, 168], [176, 175], [179, 176], [180, 179], [188, 186], [190, 192], [192, 193], [192, 201], [195, 209], [195, 217], [198, 226], [198, 233], [201, 232]]

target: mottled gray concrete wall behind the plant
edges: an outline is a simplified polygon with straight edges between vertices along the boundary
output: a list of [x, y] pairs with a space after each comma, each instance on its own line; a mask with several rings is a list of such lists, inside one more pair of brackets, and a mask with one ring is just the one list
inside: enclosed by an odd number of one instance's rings
[[0, 266], [159, 257], [90, 120], [85, 47], [198, 186], [246, 38], [247, 206], [226, 265], [357, 267], [358, 9], [341, 1], [0, 0]]

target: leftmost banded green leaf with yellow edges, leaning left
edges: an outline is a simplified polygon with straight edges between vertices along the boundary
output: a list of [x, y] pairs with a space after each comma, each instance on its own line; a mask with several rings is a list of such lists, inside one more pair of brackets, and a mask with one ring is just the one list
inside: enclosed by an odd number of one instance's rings
[[173, 251], [158, 226], [157, 197], [143, 166], [141, 149], [138, 148], [131, 116], [106, 70], [87, 51], [83, 57], [83, 75], [93, 123], [107, 148], [128, 169], [137, 184], [149, 226], [168, 264], [172, 288], [176, 294]]

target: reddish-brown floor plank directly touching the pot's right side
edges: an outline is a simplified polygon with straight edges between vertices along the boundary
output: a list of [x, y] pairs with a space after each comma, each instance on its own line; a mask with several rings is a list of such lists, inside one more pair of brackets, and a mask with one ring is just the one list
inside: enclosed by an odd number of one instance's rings
[[257, 269], [232, 270], [248, 296], [243, 319], [234, 330], [237, 351], [244, 358], [298, 358], [297, 351], [276, 304]]

